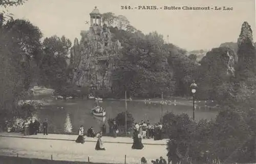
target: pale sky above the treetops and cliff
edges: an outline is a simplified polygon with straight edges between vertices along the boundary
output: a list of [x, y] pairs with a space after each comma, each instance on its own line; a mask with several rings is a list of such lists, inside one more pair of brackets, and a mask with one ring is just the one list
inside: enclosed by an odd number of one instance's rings
[[[157, 31], [169, 43], [187, 50], [211, 49], [224, 42], [237, 42], [241, 26], [247, 21], [255, 32], [254, 0], [28, 0], [9, 8], [14, 18], [27, 19], [38, 26], [44, 37], [65, 35], [72, 43], [80, 31], [89, 30], [89, 13], [97, 6], [100, 13], [124, 15], [131, 25], [147, 34]], [[122, 10], [121, 6], [131, 6]], [[158, 10], [139, 10], [138, 6], [157, 6]], [[160, 7], [229, 7], [224, 10], [163, 10]], [[169, 37], [167, 37], [169, 36]], [[253, 36], [254, 41], [255, 35]]]

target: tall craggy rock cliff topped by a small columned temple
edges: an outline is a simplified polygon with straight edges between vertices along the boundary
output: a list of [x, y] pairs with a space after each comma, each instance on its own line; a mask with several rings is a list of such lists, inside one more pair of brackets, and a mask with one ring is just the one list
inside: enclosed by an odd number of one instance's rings
[[81, 31], [70, 52], [71, 81], [78, 86], [111, 90], [111, 72], [121, 44], [113, 39], [97, 7], [90, 13], [89, 31]]

